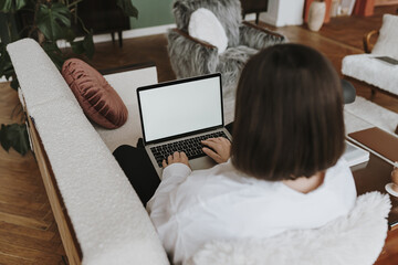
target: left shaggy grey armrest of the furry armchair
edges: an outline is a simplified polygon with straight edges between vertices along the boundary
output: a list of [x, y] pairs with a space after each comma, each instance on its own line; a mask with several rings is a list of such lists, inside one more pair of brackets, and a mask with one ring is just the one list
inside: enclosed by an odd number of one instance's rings
[[172, 29], [168, 34], [168, 53], [177, 78], [216, 72], [218, 50], [216, 46]]

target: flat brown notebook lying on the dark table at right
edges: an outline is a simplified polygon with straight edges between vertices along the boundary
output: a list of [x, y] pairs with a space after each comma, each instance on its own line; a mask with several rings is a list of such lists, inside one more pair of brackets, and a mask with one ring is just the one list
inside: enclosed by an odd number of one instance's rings
[[348, 134], [347, 138], [364, 147], [385, 161], [398, 161], [398, 137], [377, 127]]

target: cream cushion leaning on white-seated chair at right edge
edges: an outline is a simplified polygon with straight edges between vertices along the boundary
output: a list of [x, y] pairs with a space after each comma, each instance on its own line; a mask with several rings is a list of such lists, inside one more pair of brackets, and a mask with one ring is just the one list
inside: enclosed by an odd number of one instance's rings
[[371, 53], [398, 59], [398, 15], [385, 14], [383, 17], [380, 35]]

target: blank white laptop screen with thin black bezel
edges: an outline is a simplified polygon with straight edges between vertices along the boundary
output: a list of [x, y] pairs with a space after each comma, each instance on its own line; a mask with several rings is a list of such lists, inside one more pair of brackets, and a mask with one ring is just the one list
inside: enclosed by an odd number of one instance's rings
[[137, 94], [146, 142], [223, 125], [220, 74], [139, 87]]

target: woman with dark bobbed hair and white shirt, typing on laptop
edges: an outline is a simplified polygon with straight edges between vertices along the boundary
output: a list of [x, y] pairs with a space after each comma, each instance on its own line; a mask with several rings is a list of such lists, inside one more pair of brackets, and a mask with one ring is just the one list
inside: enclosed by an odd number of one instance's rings
[[166, 251], [184, 263], [211, 240], [263, 239], [346, 215], [356, 189], [341, 159], [344, 138], [331, 63], [297, 44], [261, 51], [239, 81], [232, 145], [203, 141], [219, 165], [191, 171], [184, 152], [163, 162], [147, 209]]

